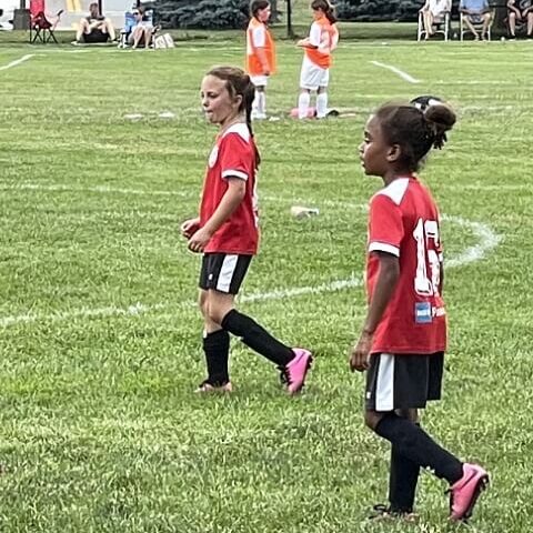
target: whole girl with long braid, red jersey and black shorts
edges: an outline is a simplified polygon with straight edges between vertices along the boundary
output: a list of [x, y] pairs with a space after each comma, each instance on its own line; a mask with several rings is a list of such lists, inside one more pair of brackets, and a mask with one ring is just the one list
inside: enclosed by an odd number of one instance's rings
[[275, 363], [288, 392], [294, 394], [304, 384], [311, 353], [282, 344], [234, 309], [234, 296], [259, 241], [255, 174], [260, 155], [251, 124], [253, 98], [254, 86], [241, 69], [213, 68], [202, 80], [203, 110], [220, 131], [208, 161], [200, 217], [181, 225], [189, 250], [203, 253], [199, 303], [208, 376], [198, 391], [231, 391], [228, 360], [232, 333]]

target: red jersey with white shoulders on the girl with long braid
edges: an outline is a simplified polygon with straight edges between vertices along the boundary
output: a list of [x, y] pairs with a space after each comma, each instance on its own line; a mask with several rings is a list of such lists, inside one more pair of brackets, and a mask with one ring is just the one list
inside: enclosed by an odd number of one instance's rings
[[258, 253], [259, 230], [255, 198], [255, 145], [248, 125], [237, 123], [218, 137], [209, 155], [200, 205], [200, 225], [203, 227], [220, 204], [228, 190], [228, 178], [247, 182], [240, 205], [208, 242], [205, 253]]

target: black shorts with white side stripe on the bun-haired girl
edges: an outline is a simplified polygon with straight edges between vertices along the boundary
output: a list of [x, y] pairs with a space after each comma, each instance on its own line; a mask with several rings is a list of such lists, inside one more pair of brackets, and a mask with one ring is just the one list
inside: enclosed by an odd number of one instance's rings
[[444, 352], [373, 353], [366, 371], [366, 410], [424, 409], [428, 401], [441, 399], [443, 370]]

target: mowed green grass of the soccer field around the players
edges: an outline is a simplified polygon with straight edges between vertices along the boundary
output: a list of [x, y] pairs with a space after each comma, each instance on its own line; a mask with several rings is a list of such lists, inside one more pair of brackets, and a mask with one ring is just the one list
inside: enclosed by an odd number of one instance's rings
[[[529, 532], [533, 47], [344, 43], [330, 102], [345, 118], [300, 123], [285, 115], [301, 52], [280, 44], [268, 90], [280, 120], [254, 124], [263, 239], [241, 309], [316, 360], [289, 399], [235, 341], [237, 392], [198, 398], [200, 262], [178, 229], [215, 135], [200, 80], [242, 50], [0, 50], [0, 67], [34, 54], [0, 71], [1, 531], [463, 530], [431, 475], [418, 525], [365, 521], [386, 497], [389, 446], [364, 429], [363, 376], [346, 364], [364, 316], [364, 205], [381, 185], [360, 169], [362, 128], [380, 103], [430, 93], [460, 121], [423, 171], [453, 266], [444, 398], [423, 423], [492, 473], [472, 530]], [[320, 215], [296, 221], [293, 204]]]

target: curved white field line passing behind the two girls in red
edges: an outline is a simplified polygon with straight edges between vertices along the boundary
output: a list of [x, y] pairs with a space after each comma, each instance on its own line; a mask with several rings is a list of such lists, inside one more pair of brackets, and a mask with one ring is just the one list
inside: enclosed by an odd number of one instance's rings
[[[332, 202], [333, 203], [333, 202]], [[345, 203], [344, 207], [353, 209], [366, 209], [365, 205]], [[473, 247], [466, 248], [457, 257], [446, 260], [446, 266], [456, 268], [474, 261], [481, 261], [491, 250], [493, 250], [501, 241], [501, 235], [497, 235], [487, 224], [481, 222], [472, 222], [460, 217], [443, 215], [444, 220], [452, 223], [469, 228], [477, 238], [477, 243]], [[341, 291], [344, 289], [358, 288], [363, 284], [362, 276], [352, 275], [345, 280], [333, 280], [313, 286], [295, 286], [292, 289], [279, 289], [270, 292], [258, 292], [244, 294], [239, 299], [240, 302], [264, 302], [269, 300], [284, 300], [288, 298], [298, 298], [306, 294], [321, 294], [328, 292]], [[134, 303], [127, 308], [118, 308], [108, 305], [105, 308], [94, 309], [73, 309], [68, 311], [60, 311], [50, 314], [44, 313], [23, 313], [11, 316], [0, 318], [0, 328], [17, 325], [22, 323], [34, 323], [40, 321], [60, 322], [72, 321], [74, 319], [86, 318], [107, 318], [107, 316], [135, 316], [143, 313], [162, 310], [178, 310], [192, 309], [195, 305], [192, 301], [179, 303], [155, 303], [143, 304]]]

